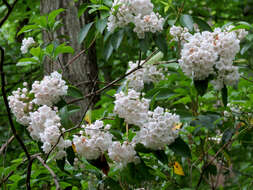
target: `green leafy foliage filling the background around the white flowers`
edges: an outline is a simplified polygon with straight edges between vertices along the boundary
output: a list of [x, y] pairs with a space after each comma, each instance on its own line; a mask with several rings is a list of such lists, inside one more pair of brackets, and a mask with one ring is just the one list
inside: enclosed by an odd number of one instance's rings
[[[54, 161], [52, 153], [46, 163], [55, 172], [62, 189], [104, 187], [112, 190], [137, 188], [191, 190], [196, 189], [202, 169], [213, 157], [217, 157], [205, 169], [205, 180], [201, 182], [199, 189], [209, 189], [210, 183], [213, 185], [212, 180], [219, 176], [225, 181], [214, 189], [252, 189], [253, 15], [250, 12], [252, 2], [225, 0], [152, 2], [155, 5], [154, 9], [166, 18], [164, 31], [161, 33], [146, 33], [145, 38], [140, 40], [132, 31], [131, 24], [108, 32], [106, 24], [112, 1], [91, 0], [78, 7], [78, 17], [89, 14], [92, 15], [92, 19], [83, 26], [76, 38], [84, 49], [93, 41], [96, 44], [98, 80], [101, 82], [99, 88], [122, 76], [127, 70], [129, 61], [143, 60], [151, 52], [159, 49], [160, 52], [146, 64], [158, 63], [161, 68], [165, 68], [167, 70], [165, 79], [159, 83], [145, 84], [143, 96], [150, 99], [150, 110], [161, 106], [180, 116], [182, 123], [175, 124], [181, 128], [180, 136], [161, 150], [151, 150], [142, 144], [135, 145], [140, 162], [129, 163], [121, 169], [114, 165], [107, 154], [103, 155], [103, 159], [89, 162], [79, 158], [74, 147], [67, 148], [67, 155], [61, 160]], [[25, 81], [31, 86], [34, 80], [41, 79], [45, 61], [54, 64], [63, 54], [75, 53], [70, 43], [63, 43], [62, 39], [54, 37], [55, 32], [63, 26], [61, 20], [64, 11], [66, 10], [58, 9], [47, 15], [40, 15], [39, 1], [21, 0], [17, 3], [8, 21], [2, 26], [0, 34], [0, 45], [6, 52], [4, 71], [8, 81], [6, 86], [8, 95], [12, 90], [21, 87]], [[1, 4], [0, 18], [6, 13], [7, 7]], [[240, 55], [234, 61], [242, 78], [237, 87], [224, 86], [217, 92], [209, 83], [209, 79], [192, 81], [183, 74], [177, 63], [181, 47], [171, 41], [169, 29], [172, 24], [176, 24], [187, 27], [193, 33], [196, 26], [200, 31], [213, 31], [215, 27], [229, 23], [235, 25], [232, 30], [249, 31], [249, 35], [241, 43]], [[42, 32], [50, 36], [49, 42], [42, 40]], [[34, 37], [36, 44], [27, 54], [21, 55], [20, 39], [30, 36]], [[62, 38], [68, 39], [66, 36]], [[85, 99], [84, 92], [71, 84], [68, 86], [68, 97]], [[131, 140], [135, 136], [134, 131], [138, 130], [136, 126], [129, 125], [127, 133], [124, 120], [113, 114], [114, 95], [120, 89], [127, 88], [126, 86], [127, 84], [118, 87], [116, 84], [100, 94], [99, 100], [89, 112], [92, 122], [103, 119], [105, 123], [111, 124], [110, 132], [113, 138], [119, 141]], [[0, 99], [2, 145], [11, 133], [2, 97]], [[70, 116], [80, 112], [80, 107], [67, 104], [64, 100], [57, 106], [62, 127], [65, 129], [74, 127]], [[240, 108], [240, 111], [237, 112], [233, 107]], [[24, 126], [17, 122], [14, 124], [29, 152], [43, 153], [42, 144], [34, 141]], [[77, 133], [78, 131], [74, 130], [64, 135], [71, 137]], [[223, 146], [226, 147], [222, 148]], [[41, 156], [45, 158], [44, 154]], [[78, 166], [75, 165], [75, 158], [80, 161]], [[222, 170], [216, 160], [222, 162]], [[7, 152], [0, 156], [0, 161], [0, 188], [25, 189], [28, 162], [16, 140], [8, 145]], [[184, 176], [174, 172], [173, 164], [176, 161], [182, 165]], [[15, 171], [14, 174], [2, 185], [2, 180], [12, 171]], [[55, 189], [49, 171], [38, 160], [35, 160], [32, 166], [31, 186], [32, 189]]]

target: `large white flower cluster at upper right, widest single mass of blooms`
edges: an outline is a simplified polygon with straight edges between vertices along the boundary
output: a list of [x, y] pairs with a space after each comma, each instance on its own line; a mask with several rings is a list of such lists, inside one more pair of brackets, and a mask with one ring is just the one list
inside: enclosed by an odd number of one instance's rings
[[216, 79], [213, 84], [217, 90], [222, 89], [224, 84], [235, 85], [239, 73], [233, 61], [240, 50], [240, 40], [248, 33], [244, 29], [231, 31], [233, 27], [191, 35], [187, 30], [173, 26], [171, 35], [175, 40], [183, 42], [179, 59], [183, 72], [194, 80], [204, 80], [214, 75]]

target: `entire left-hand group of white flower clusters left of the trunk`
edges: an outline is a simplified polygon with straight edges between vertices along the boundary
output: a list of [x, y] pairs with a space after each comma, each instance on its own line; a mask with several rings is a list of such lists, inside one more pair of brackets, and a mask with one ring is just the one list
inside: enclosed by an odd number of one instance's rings
[[[24, 83], [24, 86], [27, 86], [27, 83]], [[41, 82], [35, 81], [31, 91], [19, 88], [8, 97], [17, 122], [28, 126], [27, 130], [31, 137], [43, 143], [42, 149], [45, 153], [51, 150], [61, 135], [58, 108], [54, 107], [53, 110], [49, 106], [57, 103], [59, 96], [66, 95], [67, 88], [61, 74], [53, 72], [50, 76], [45, 76]], [[42, 106], [39, 107], [40, 105]], [[60, 138], [56, 146], [56, 158], [64, 157], [66, 155], [64, 148], [69, 146], [71, 141]]]

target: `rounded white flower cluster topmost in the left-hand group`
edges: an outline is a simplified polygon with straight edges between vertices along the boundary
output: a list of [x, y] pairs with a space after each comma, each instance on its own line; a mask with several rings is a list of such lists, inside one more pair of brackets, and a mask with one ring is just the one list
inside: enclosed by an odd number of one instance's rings
[[51, 106], [59, 101], [60, 96], [66, 95], [67, 90], [68, 86], [62, 80], [62, 75], [55, 71], [42, 81], [35, 81], [31, 92], [35, 95], [35, 104]]

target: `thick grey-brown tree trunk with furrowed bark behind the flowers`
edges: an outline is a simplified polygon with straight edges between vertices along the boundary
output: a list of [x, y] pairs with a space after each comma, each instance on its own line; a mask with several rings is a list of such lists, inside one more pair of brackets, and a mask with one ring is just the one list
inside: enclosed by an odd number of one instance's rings
[[[75, 3], [74, 0], [41, 0], [42, 15], [48, 14], [55, 9], [65, 9], [65, 11], [58, 16], [59, 19], [62, 20], [63, 26], [56, 32], [56, 34], [54, 34], [53, 38], [59, 40], [60, 43], [70, 42], [69, 45], [74, 48], [75, 55], [85, 48], [77, 42], [80, 29], [85, 25], [85, 23], [88, 23], [90, 19], [88, 14], [83, 14], [78, 18], [77, 7], [85, 2], [87, 3], [87, 0], [79, 0], [78, 3]], [[61, 36], [67, 36], [69, 39], [60, 39], [59, 37]], [[43, 40], [44, 42], [48, 42], [50, 40], [50, 36], [44, 33]], [[45, 61], [44, 71], [46, 73], [51, 73], [54, 70], [61, 70], [60, 64], [66, 65], [71, 58], [73, 58], [73, 55], [64, 54], [59, 58], [59, 62], [54, 63], [53, 66], [49, 63], [49, 61]], [[84, 81], [92, 81], [97, 76], [98, 68], [95, 43], [90, 47], [88, 52], [82, 54], [75, 62], [70, 64], [63, 73], [64, 79], [67, 79], [74, 86]], [[82, 91], [83, 95], [85, 95], [91, 92], [93, 86], [94, 85], [92, 83], [85, 82], [78, 85], [78, 88]], [[82, 112], [86, 109], [89, 101], [89, 98], [87, 98], [77, 103], [81, 107], [81, 112], [72, 118], [74, 123], [77, 123], [80, 120], [81, 115], [83, 114]]]

